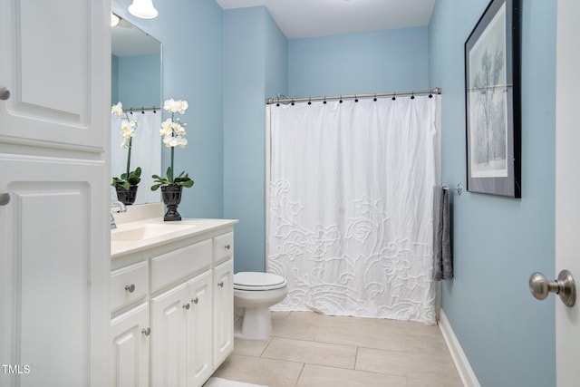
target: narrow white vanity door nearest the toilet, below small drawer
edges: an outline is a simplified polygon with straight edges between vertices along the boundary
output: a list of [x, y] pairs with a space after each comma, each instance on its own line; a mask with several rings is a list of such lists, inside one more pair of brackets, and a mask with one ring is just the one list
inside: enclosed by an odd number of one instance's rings
[[234, 260], [214, 267], [214, 369], [234, 350]]

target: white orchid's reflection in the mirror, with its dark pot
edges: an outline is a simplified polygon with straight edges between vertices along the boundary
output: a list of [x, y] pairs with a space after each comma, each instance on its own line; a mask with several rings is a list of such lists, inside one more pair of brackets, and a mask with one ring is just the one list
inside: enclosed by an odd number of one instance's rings
[[135, 202], [137, 198], [137, 188], [141, 181], [141, 169], [137, 167], [131, 170], [131, 148], [133, 143], [133, 137], [135, 136], [135, 131], [139, 125], [137, 120], [131, 120], [126, 111], [123, 111], [123, 105], [121, 102], [116, 105], [112, 105], [111, 114], [121, 117], [124, 115], [124, 119], [121, 121], [121, 148], [127, 150], [127, 167], [124, 173], [121, 173], [119, 178], [113, 177], [111, 186], [117, 191], [117, 198], [121, 203], [125, 205], [130, 205]]

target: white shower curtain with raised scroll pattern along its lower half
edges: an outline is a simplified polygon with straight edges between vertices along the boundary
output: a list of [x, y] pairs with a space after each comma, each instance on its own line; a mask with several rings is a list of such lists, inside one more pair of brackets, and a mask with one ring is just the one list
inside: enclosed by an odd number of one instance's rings
[[267, 271], [275, 310], [435, 323], [439, 97], [266, 109]]

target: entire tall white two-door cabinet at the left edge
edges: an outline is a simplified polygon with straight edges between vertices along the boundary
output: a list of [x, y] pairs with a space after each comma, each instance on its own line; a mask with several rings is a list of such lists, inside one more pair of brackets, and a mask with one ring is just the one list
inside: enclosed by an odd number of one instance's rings
[[109, 382], [109, 0], [0, 0], [0, 386]]

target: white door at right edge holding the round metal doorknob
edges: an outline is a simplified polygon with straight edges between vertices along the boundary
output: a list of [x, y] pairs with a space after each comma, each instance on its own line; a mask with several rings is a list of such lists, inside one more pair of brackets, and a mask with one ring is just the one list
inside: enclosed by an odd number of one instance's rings
[[[578, 0], [557, 2], [556, 43], [556, 273], [569, 270], [580, 280], [580, 50]], [[580, 381], [580, 300], [573, 307], [556, 301], [556, 382]]]

